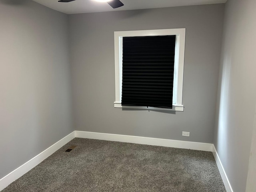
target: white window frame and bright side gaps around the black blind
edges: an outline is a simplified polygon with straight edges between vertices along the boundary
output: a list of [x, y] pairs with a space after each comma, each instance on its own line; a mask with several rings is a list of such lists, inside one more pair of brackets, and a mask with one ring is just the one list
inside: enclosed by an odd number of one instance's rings
[[[152, 110], [175, 110], [183, 111], [182, 105], [182, 86], [183, 86], [183, 68], [184, 68], [184, 49], [185, 49], [185, 28], [181, 29], [162, 29], [162, 30], [139, 30], [139, 31], [118, 31], [114, 32], [115, 43], [115, 82], [116, 82], [116, 101], [114, 107], [117, 108], [140, 108]], [[151, 38], [150, 38], [151, 36]], [[173, 37], [175, 40], [175, 56], [174, 56], [174, 71], [173, 71], [173, 90], [172, 90], [172, 108], [162, 108], [158, 104], [148, 106], [126, 106], [122, 103], [122, 79], [123, 79], [123, 40], [127, 39], [157, 39], [157, 37]], [[133, 38], [125, 38], [133, 37]], [[156, 37], [156, 38], [154, 38]], [[124, 39], [123, 39], [124, 38]], [[161, 38], [161, 37], [160, 37]], [[128, 41], [128, 42], [129, 42]], [[132, 43], [132, 41], [130, 41]], [[124, 74], [125, 75], [125, 74]], [[125, 94], [125, 92], [124, 92]], [[171, 100], [171, 97], [170, 97]]]

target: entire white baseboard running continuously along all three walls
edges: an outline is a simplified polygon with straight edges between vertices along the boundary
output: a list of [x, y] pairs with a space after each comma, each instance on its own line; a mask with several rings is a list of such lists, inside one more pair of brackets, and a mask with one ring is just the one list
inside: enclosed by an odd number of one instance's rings
[[233, 192], [228, 181], [228, 178], [226, 176], [226, 173], [224, 171], [224, 168], [220, 162], [220, 158], [213, 144], [86, 131], [74, 131], [70, 133], [66, 137], [62, 138], [61, 140], [59, 140], [58, 142], [56, 142], [55, 144], [53, 144], [52, 146], [50, 146], [49, 148], [47, 148], [46, 150], [32, 158], [31, 160], [29, 160], [28, 162], [24, 163], [22, 166], [18, 167], [16, 170], [4, 176], [2, 179], [0, 179], [0, 191], [6, 188], [12, 182], [14, 182], [16, 179], [20, 178], [26, 172], [34, 168], [36, 165], [38, 165], [40, 162], [42, 162], [44, 159], [53, 154], [56, 150], [64, 146], [66, 143], [70, 142], [75, 137], [213, 152], [216, 164], [220, 171], [220, 175], [222, 177], [226, 190], [227, 192]]

